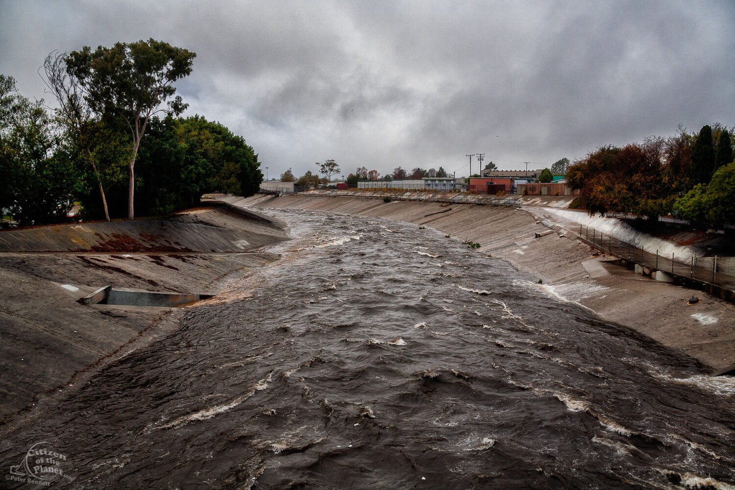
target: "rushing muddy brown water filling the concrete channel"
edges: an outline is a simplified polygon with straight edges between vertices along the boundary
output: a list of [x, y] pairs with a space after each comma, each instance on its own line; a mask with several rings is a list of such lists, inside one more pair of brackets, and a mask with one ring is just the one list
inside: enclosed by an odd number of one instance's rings
[[[430, 229], [295, 239], [0, 442], [68, 488], [734, 488], [735, 383]], [[5, 480], [8, 486], [21, 485]]]

